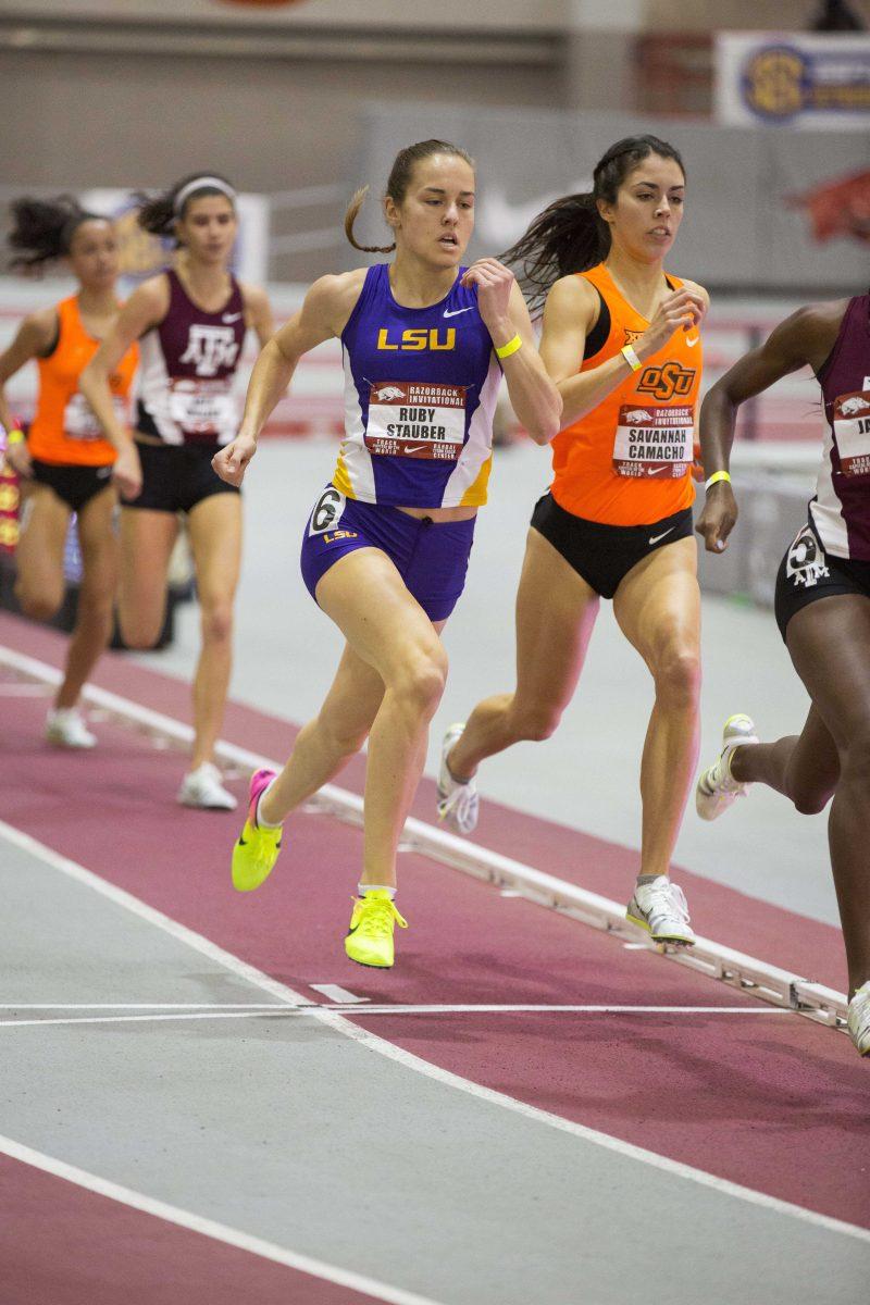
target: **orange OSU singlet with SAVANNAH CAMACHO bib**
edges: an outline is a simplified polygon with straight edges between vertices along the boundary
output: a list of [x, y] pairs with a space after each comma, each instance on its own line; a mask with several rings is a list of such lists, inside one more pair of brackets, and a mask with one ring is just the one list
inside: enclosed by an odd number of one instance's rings
[[[601, 262], [578, 273], [601, 296], [591, 335], [607, 328], [580, 372], [600, 367], [631, 345], [650, 322], [623, 299]], [[673, 290], [682, 282], [668, 277]], [[702, 343], [697, 328], [676, 331], [638, 372], [553, 440], [552, 495], [560, 508], [608, 526], [646, 526], [689, 508], [690, 470]]]

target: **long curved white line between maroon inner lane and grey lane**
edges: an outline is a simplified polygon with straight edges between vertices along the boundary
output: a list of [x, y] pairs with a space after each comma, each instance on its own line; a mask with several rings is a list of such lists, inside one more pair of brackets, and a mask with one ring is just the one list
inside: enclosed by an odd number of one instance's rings
[[[160, 911], [155, 911], [153, 907], [146, 906], [145, 902], [140, 902], [140, 899], [134, 898], [132, 893], [125, 893], [123, 889], [115, 887], [113, 883], [100, 880], [98, 874], [94, 874], [91, 870], [86, 870], [83, 865], [70, 861], [68, 857], [55, 852], [51, 847], [46, 847], [44, 843], [39, 843], [29, 834], [22, 834], [21, 830], [14, 829], [5, 821], [0, 821], [0, 837], [5, 838], [14, 846], [21, 847], [31, 856], [44, 861], [46, 865], [51, 865], [53, 869], [60, 870], [63, 874], [76, 880], [78, 883], [83, 883], [95, 893], [99, 893], [110, 900], [116, 902], [119, 906], [125, 907], [125, 910], [130, 911], [142, 920], [147, 920], [158, 929], [163, 929], [164, 933], [171, 934], [173, 938], [185, 942], [189, 947], [209, 957], [217, 964], [223, 966], [237, 977], [245, 979], [257, 988], [265, 989], [270, 993], [270, 996], [279, 997], [290, 1005], [305, 1005], [305, 1000], [300, 996], [300, 993], [293, 992], [292, 988], [279, 983], [278, 979], [271, 979], [269, 975], [262, 974], [262, 971], [257, 970], [254, 966], [248, 964], [247, 960], [233, 957], [231, 951], [224, 951], [223, 947], [210, 942], [209, 938], [203, 938], [202, 934], [194, 933], [193, 929], [188, 929], [183, 924], [177, 924]], [[863, 1241], [870, 1245], [870, 1229], [867, 1228], [858, 1228], [856, 1224], [848, 1224], [841, 1219], [832, 1219], [830, 1215], [819, 1214], [815, 1210], [806, 1210], [803, 1206], [796, 1206], [789, 1201], [780, 1201], [779, 1197], [771, 1197], [764, 1191], [755, 1191], [751, 1188], [743, 1188], [737, 1182], [730, 1182], [728, 1178], [720, 1178], [716, 1174], [706, 1173], [703, 1169], [695, 1169], [693, 1165], [682, 1164], [678, 1160], [670, 1160], [668, 1156], [656, 1155], [655, 1151], [647, 1151], [643, 1147], [634, 1146], [631, 1142], [623, 1142], [621, 1138], [610, 1137], [608, 1133], [599, 1133], [596, 1129], [587, 1128], [584, 1124], [575, 1124], [573, 1120], [565, 1120], [558, 1114], [550, 1114], [549, 1111], [543, 1111], [537, 1105], [528, 1105], [526, 1101], [519, 1101], [515, 1098], [507, 1096], [505, 1092], [498, 1092], [492, 1087], [484, 1087], [480, 1083], [473, 1083], [471, 1079], [462, 1078], [459, 1074], [453, 1074], [450, 1070], [441, 1069], [440, 1065], [432, 1065], [420, 1056], [415, 1056], [412, 1052], [407, 1052], [402, 1047], [397, 1047], [393, 1043], [386, 1041], [386, 1039], [378, 1037], [376, 1034], [369, 1032], [369, 1030], [361, 1028], [352, 1021], [346, 1019], [338, 1010], [322, 1007], [316, 1011], [316, 1018], [322, 1021], [326, 1027], [342, 1034], [344, 1037], [350, 1037], [355, 1043], [359, 1043], [361, 1047], [367, 1048], [367, 1051], [376, 1052], [378, 1056], [383, 1056], [387, 1060], [394, 1061], [397, 1065], [403, 1065], [406, 1069], [413, 1070], [424, 1078], [429, 1078], [436, 1083], [442, 1083], [446, 1087], [455, 1088], [459, 1092], [466, 1092], [468, 1096], [473, 1096], [480, 1101], [487, 1101], [489, 1105], [498, 1105], [502, 1109], [510, 1111], [514, 1114], [520, 1114], [536, 1124], [543, 1124], [548, 1128], [557, 1129], [560, 1133], [580, 1138], [593, 1146], [603, 1147], [605, 1151], [613, 1151], [627, 1159], [648, 1164], [653, 1169], [660, 1169], [673, 1177], [685, 1178], [689, 1182], [694, 1182], [700, 1188], [707, 1188], [720, 1195], [733, 1197], [759, 1208], [768, 1210], [772, 1214], [784, 1215], [789, 1219], [797, 1219], [800, 1223], [810, 1224], [815, 1228], [837, 1233], [844, 1237], [853, 1237], [857, 1241]]]

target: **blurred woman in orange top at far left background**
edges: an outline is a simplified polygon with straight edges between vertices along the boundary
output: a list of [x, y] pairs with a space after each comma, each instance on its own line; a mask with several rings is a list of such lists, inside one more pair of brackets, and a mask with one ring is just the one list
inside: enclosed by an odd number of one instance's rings
[[[76, 295], [26, 317], [0, 358], [0, 422], [7, 431], [7, 458], [29, 485], [16, 549], [16, 595], [27, 616], [48, 620], [63, 603], [64, 548], [70, 517], [77, 517], [82, 583], [64, 680], [46, 733], [64, 748], [93, 748], [97, 740], [82, 719], [78, 698], [112, 633], [117, 500], [115, 449], [102, 438], [78, 378], [120, 311], [117, 244], [107, 218], [85, 211], [67, 196], [17, 200], [12, 214], [12, 266], [37, 270], [65, 258], [80, 284]], [[39, 398], [25, 440], [3, 386], [31, 359], [39, 367]], [[112, 401], [123, 420], [137, 361], [133, 345], [112, 373]]]

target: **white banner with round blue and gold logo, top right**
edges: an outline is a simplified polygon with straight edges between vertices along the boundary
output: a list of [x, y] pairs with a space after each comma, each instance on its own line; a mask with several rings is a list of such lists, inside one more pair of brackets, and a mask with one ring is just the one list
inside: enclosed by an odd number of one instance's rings
[[870, 33], [720, 31], [713, 67], [728, 127], [870, 130]]

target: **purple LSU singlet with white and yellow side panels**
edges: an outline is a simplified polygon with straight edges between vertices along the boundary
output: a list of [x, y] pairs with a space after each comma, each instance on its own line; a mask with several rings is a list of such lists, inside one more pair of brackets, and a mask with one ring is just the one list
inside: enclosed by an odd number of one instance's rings
[[473, 288], [403, 308], [389, 264], [369, 268], [342, 331], [344, 438], [333, 476], [348, 499], [394, 508], [480, 506], [501, 380]]

